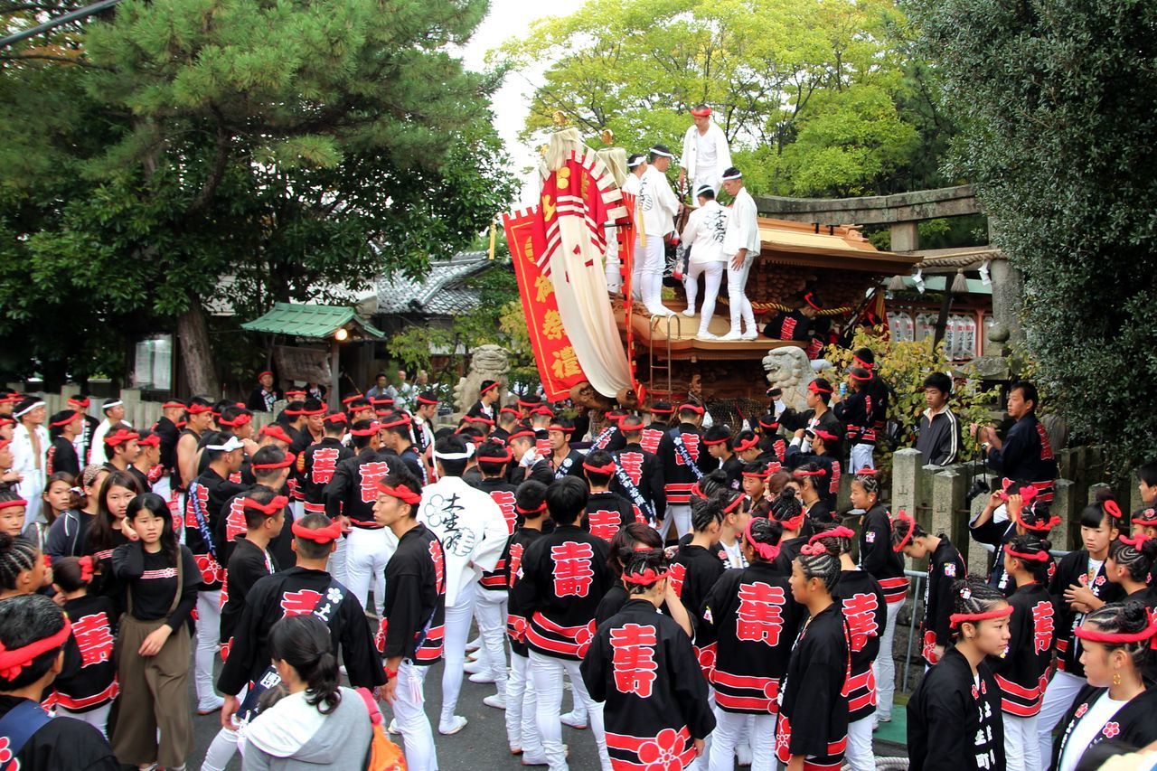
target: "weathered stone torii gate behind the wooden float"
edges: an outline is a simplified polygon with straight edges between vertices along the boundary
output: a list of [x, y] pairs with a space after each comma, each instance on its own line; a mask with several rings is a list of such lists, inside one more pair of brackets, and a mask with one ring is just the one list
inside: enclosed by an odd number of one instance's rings
[[[916, 190], [892, 196], [861, 198], [756, 198], [756, 208], [765, 216], [796, 222], [810, 222], [817, 233], [838, 225], [886, 225], [891, 232], [891, 251], [918, 255], [918, 267], [926, 273], [955, 273], [979, 267], [989, 262], [993, 282], [993, 317], [1009, 330], [1010, 339], [1023, 336], [1019, 324], [1023, 281], [1018, 271], [995, 247], [960, 249], [920, 249], [918, 226], [924, 220], [980, 214], [972, 185]], [[992, 223], [989, 223], [989, 233]]]

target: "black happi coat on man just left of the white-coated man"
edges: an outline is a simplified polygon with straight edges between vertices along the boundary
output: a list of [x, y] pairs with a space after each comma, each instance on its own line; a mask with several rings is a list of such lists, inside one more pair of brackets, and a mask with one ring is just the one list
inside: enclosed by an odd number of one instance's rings
[[425, 524], [407, 531], [385, 564], [382, 659], [403, 656], [421, 667], [442, 660], [445, 638], [445, 556]]

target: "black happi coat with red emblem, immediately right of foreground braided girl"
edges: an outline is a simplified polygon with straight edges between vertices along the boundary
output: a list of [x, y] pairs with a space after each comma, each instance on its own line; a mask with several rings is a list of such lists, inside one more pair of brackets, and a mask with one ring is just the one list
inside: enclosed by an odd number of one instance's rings
[[848, 722], [876, 712], [876, 674], [872, 662], [879, 653], [879, 636], [887, 627], [887, 603], [879, 581], [867, 571], [840, 571], [832, 596], [848, 622], [852, 675], [848, 677]]

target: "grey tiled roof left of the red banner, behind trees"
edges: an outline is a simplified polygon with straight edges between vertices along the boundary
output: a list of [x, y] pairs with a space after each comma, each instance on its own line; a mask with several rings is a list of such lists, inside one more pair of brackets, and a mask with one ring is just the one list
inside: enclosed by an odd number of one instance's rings
[[450, 259], [430, 260], [422, 280], [404, 273], [377, 279], [377, 313], [454, 316], [473, 310], [480, 299], [477, 289], [463, 282], [491, 265], [485, 251], [459, 251]]

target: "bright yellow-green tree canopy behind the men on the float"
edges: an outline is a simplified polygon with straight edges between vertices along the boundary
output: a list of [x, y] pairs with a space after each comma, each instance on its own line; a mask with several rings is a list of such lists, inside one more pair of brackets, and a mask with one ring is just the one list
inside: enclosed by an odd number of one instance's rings
[[562, 110], [595, 145], [678, 152], [706, 102], [752, 192], [886, 193], [938, 185], [953, 131], [907, 35], [891, 0], [591, 0], [498, 57], [548, 65], [525, 137]]

